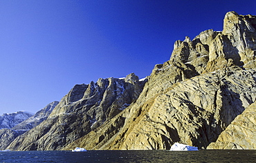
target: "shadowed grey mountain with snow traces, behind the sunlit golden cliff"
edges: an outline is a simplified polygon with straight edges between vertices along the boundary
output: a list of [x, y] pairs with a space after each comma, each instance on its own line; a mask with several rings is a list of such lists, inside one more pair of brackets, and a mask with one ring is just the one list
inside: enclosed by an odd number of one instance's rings
[[75, 85], [44, 122], [17, 137], [7, 149], [62, 149], [136, 102], [146, 82], [129, 74], [126, 78], [100, 78], [89, 85]]

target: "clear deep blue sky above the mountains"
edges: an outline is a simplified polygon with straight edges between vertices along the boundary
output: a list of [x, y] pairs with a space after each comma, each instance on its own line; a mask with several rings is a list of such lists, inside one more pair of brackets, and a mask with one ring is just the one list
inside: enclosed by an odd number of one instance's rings
[[1, 0], [0, 115], [36, 112], [75, 84], [149, 76], [174, 41], [222, 30], [228, 11], [256, 1]]

